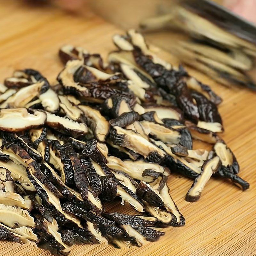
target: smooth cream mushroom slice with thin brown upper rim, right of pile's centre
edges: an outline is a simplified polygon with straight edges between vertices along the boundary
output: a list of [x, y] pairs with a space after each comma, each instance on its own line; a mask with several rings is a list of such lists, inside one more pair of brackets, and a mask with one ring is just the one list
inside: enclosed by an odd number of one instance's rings
[[145, 104], [143, 107], [145, 112], [155, 111], [160, 119], [171, 118], [179, 121], [183, 119], [180, 109], [175, 107], [165, 107], [157, 104]]

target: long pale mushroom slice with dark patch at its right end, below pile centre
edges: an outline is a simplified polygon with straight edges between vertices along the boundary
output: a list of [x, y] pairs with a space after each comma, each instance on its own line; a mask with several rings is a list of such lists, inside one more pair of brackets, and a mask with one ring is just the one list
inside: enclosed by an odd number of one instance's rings
[[[155, 163], [146, 163], [143, 160], [131, 161], [109, 156], [107, 165], [110, 169], [119, 170], [130, 175], [135, 180], [143, 180], [147, 183], [153, 182], [156, 176], [164, 172], [164, 167]], [[151, 171], [151, 172], [150, 172]], [[154, 176], [151, 176], [154, 175]]]

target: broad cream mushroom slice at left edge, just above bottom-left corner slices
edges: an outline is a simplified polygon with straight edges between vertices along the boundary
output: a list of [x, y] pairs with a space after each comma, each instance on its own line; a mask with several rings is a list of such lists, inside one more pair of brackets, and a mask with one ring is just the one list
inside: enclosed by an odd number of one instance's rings
[[34, 219], [27, 210], [4, 204], [0, 204], [0, 222], [10, 228], [35, 227]]

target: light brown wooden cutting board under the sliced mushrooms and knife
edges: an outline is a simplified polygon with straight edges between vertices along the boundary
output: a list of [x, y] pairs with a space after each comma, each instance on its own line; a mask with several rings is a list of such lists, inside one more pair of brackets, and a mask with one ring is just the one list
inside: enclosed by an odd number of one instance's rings
[[[114, 49], [111, 36], [120, 32], [113, 25], [89, 12], [83, 17], [53, 7], [32, 8], [23, 1], [0, 0], [0, 79], [14, 69], [34, 68], [54, 83], [62, 64], [58, 49], [63, 44], [83, 46], [106, 56]], [[173, 57], [159, 52], [164, 59]], [[171, 174], [168, 180], [173, 199], [186, 218], [184, 227], [166, 228], [165, 236], [141, 248], [114, 249], [107, 244], [76, 245], [70, 256], [252, 256], [256, 255], [256, 94], [245, 89], [228, 89], [199, 72], [190, 70], [199, 80], [212, 86], [223, 98], [220, 113], [224, 121], [223, 139], [234, 151], [241, 167], [240, 175], [251, 183], [242, 192], [228, 180], [211, 179], [201, 199], [185, 201], [192, 181]], [[108, 210], [132, 213], [116, 203]], [[4, 256], [49, 255], [40, 249], [1, 241]]]

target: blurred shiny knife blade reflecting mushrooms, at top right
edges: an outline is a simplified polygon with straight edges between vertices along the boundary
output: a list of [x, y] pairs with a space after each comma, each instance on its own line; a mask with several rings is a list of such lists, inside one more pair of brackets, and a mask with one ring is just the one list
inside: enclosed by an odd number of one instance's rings
[[142, 31], [147, 41], [220, 84], [256, 90], [256, 27], [219, 5], [222, 2], [98, 0], [91, 6], [117, 26]]

